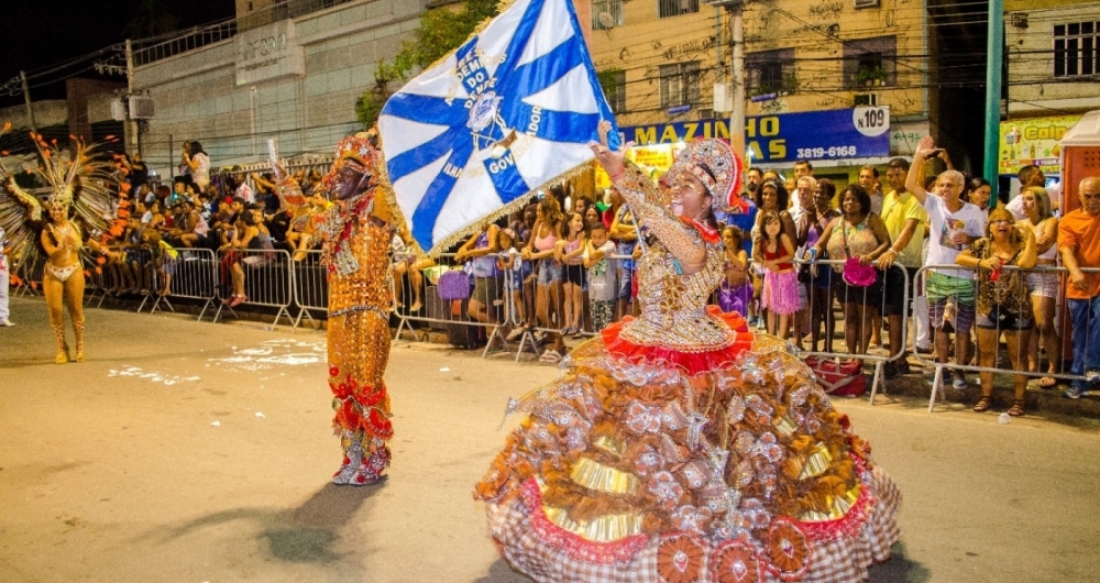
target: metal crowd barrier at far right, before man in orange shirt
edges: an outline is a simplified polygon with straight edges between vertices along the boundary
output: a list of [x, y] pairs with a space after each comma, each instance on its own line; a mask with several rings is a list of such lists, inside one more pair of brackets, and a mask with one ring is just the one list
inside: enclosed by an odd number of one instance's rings
[[[921, 270], [917, 272], [917, 279], [916, 280], [919, 283], [925, 283], [927, 274], [930, 272], [932, 272], [932, 271], [952, 271], [952, 272], [958, 272], [958, 273], [960, 273], [963, 275], [963, 277], [965, 279], [971, 279], [971, 280], [974, 280], [975, 282], [975, 286], [974, 286], [974, 288], [975, 288], [975, 306], [971, 309], [974, 309], [975, 311], [977, 311], [977, 294], [979, 293], [979, 289], [978, 289], [978, 285], [979, 284], [978, 284], [977, 277], [975, 276], [975, 271], [976, 271], [975, 268], [960, 267], [958, 265], [925, 265], [925, 266], [921, 267]], [[922, 365], [934, 366], [935, 370], [936, 370], [935, 377], [933, 378], [933, 383], [932, 383], [932, 395], [928, 398], [928, 413], [932, 413], [934, 410], [935, 403], [936, 403], [936, 397], [937, 396], [942, 396], [941, 391], [942, 391], [943, 385], [944, 385], [944, 371], [945, 370], [949, 370], [952, 372], [963, 372], [963, 373], [971, 372], [971, 373], [979, 373], [979, 374], [980, 373], [993, 373], [993, 374], [1020, 375], [1020, 376], [1027, 376], [1027, 377], [1052, 377], [1052, 378], [1062, 380], [1062, 381], [1069, 381], [1069, 382], [1072, 382], [1072, 381], [1088, 381], [1089, 380], [1089, 375], [1087, 374], [1088, 373], [1087, 371], [1081, 371], [1080, 373], [1075, 374], [1072, 372], [1071, 367], [1067, 369], [1067, 366], [1066, 366], [1067, 362], [1071, 362], [1072, 361], [1072, 345], [1071, 345], [1072, 322], [1070, 321], [1070, 315], [1068, 314], [1068, 309], [1066, 307], [1067, 306], [1066, 290], [1067, 290], [1067, 285], [1069, 284], [1068, 278], [1066, 277], [1067, 273], [1068, 273], [1067, 270], [1065, 267], [1054, 267], [1054, 266], [1045, 266], [1045, 265], [1040, 265], [1040, 266], [1036, 266], [1036, 267], [1031, 268], [1031, 270], [1020, 270], [1019, 267], [1016, 267], [1014, 265], [1005, 265], [1004, 267], [1002, 267], [1002, 273], [1003, 272], [1012, 272], [1012, 271], [1024, 272], [1025, 274], [1033, 274], [1034, 273], [1034, 274], [1048, 274], [1048, 275], [1056, 275], [1057, 276], [1058, 292], [1057, 292], [1057, 297], [1054, 298], [1054, 301], [1053, 301], [1053, 304], [1054, 304], [1054, 306], [1053, 306], [1054, 311], [1053, 311], [1052, 319], [1054, 320], [1054, 331], [1056, 332], [1056, 336], [1055, 336], [1055, 338], [1053, 340], [1055, 340], [1055, 343], [1058, 345], [1058, 351], [1057, 352], [1059, 352], [1060, 356], [1057, 359], [1056, 362], [1053, 363], [1054, 367], [1055, 367], [1055, 372], [1052, 373], [1052, 372], [1048, 371], [1048, 367], [1052, 364], [1050, 361], [1049, 361], [1049, 358], [1047, 359], [1047, 362], [1045, 363], [1047, 366], [1043, 366], [1044, 362], [1040, 358], [1041, 354], [1040, 354], [1037, 348], [1036, 348], [1036, 355], [1035, 355], [1036, 371], [1027, 371], [1026, 366], [1027, 366], [1028, 355], [1025, 352], [1027, 350], [1027, 346], [1024, 346], [1023, 350], [1020, 351], [1022, 353], [1021, 356], [1020, 356], [1020, 359], [1023, 360], [1023, 365], [1024, 365], [1023, 370], [1013, 369], [1012, 365], [1011, 365], [1011, 359], [1010, 359], [1009, 367], [1008, 369], [996, 366], [996, 364], [998, 362], [1000, 362], [999, 356], [1000, 356], [1000, 345], [1001, 345], [1002, 332], [1005, 332], [1005, 331], [1011, 332], [1011, 331], [1016, 330], [1014, 327], [1011, 327], [1011, 324], [1010, 326], [1005, 326], [1004, 328], [1002, 328], [1001, 322], [1003, 320], [1000, 319], [1000, 318], [998, 318], [996, 320], [996, 322], [994, 322], [996, 323], [996, 328], [992, 328], [992, 330], [997, 334], [997, 354], [994, 354], [994, 356], [993, 356], [994, 358], [994, 366], [989, 367], [989, 366], [980, 366], [980, 365], [978, 365], [978, 363], [980, 362], [979, 361], [979, 352], [980, 351], [978, 350], [978, 342], [977, 342], [977, 338], [976, 338], [977, 337], [976, 332], [977, 332], [978, 327], [977, 327], [977, 322], [974, 322], [974, 323], [971, 323], [970, 329], [969, 329], [969, 331], [970, 331], [970, 333], [969, 333], [969, 336], [970, 336], [970, 345], [971, 345], [971, 348], [974, 350], [972, 351], [968, 350], [968, 351], [971, 352], [971, 354], [974, 355], [974, 361], [975, 361], [976, 364], [970, 364], [970, 362], [958, 362], [959, 361], [959, 356], [960, 356], [959, 355], [959, 350], [960, 350], [961, 339], [958, 337], [957, 333], [955, 333], [955, 331], [950, 332], [954, 336], [954, 342], [953, 342], [954, 353], [949, 354], [949, 359], [952, 361], [954, 361], [954, 362], [946, 363], [946, 362], [939, 362], [938, 361], [938, 359], [935, 356], [935, 354], [936, 354], [935, 338], [933, 338], [933, 356], [931, 358], [931, 360], [928, 358], [922, 356], [921, 354], [916, 355], [917, 360], [921, 362]], [[1093, 268], [1081, 268], [1081, 271], [1089, 278], [1100, 277], [1100, 268], [1094, 268], [1094, 267]], [[1032, 301], [1032, 294], [1031, 294], [1031, 288], [1030, 288], [1031, 286], [1027, 286], [1027, 287], [1028, 287], [1028, 289], [1027, 289], [1027, 293], [1026, 293], [1025, 300], [1028, 301], [1028, 302], [1031, 302]], [[925, 287], [925, 289], [927, 289], [927, 288]], [[949, 296], [945, 297], [944, 301], [948, 302], [948, 304], [954, 304], [955, 306], [958, 306], [960, 304], [960, 296], [959, 296], [959, 294], [949, 295]], [[931, 301], [931, 299], [930, 299], [930, 312], [932, 311], [932, 306], [931, 306], [932, 304], [933, 304], [933, 301]], [[957, 307], [956, 307], [955, 315], [956, 316], [955, 316], [954, 321], [950, 322], [953, 327], [958, 324], [958, 308]], [[931, 316], [931, 314], [930, 314], [930, 316]], [[1035, 316], [1037, 318], [1037, 315], [1033, 314], [1033, 316]], [[977, 320], [977, 319], [978, 319], [978, 315], [976, 314], [975, 315], [975, 320]], [[1040, 329], [1041, 329], [1041, 324], [1044, 324], [1044, 323], [1048, 323], [1048, 322], [1038, 322], [1038, 321], [1035, 321], [1033, 319], [1032, 328], [1028, 329], [1028, 334], [1027, 336], [1032, 337], [1034, 334], [1038, 334], [1040, 333]], [[933, 327], [933, 336], [935, 336], [935, 329], [934, 329], [934, 327]], [[1087, 343], [1088, 342], [1088, 334], [1086, 334], [1085, 340], [1086, 340], [1086, 345], [1081, 346], [1080, 350], [1087, 351], [1088, 350], [1088, 343]], [[1036, 339], [1035, 342], [1038, 342], [1038, 340]], [[1053, 350], [1052, 346], [1046, 346], [1044, 344], [1044, 351], [1050, 351], [1050, 350]], [[968, 361], [969, 361], [969, 359], [968, 359]], [[968, 384], [968, 386], [970, 386], [969, 382], [967, 384]], [[979, 381], [979, 386], [980, 386], [980, 381]]]

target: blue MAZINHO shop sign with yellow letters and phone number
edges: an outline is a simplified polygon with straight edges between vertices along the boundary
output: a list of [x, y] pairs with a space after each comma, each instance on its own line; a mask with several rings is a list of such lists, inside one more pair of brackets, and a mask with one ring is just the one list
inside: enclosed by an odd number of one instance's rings
[[[638, 145], [698, 138], [729, 139], [729, 120], [700, 120], [622, 128]], [[866, 158], [890, 155], [890, 108], [869, 107], [754, 116], [745, 119], [745, 148], [756, 163]]]

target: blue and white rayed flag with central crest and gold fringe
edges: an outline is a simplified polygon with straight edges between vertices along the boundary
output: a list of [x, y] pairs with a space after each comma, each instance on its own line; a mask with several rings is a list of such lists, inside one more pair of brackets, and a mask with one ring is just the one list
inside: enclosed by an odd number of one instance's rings
[[435, 252], [591, 161], [601, 120], [614, 123], [572, 4], [516, 0], [391, 97], [378, 130], [409, 230]]

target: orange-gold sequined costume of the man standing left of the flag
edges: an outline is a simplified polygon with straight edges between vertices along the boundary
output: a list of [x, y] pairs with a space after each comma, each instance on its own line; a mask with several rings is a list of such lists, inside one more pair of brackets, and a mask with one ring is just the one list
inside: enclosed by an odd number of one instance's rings
[[[328, 267], [332, 426], [344, 451], [343, 463], [332, 479], [337, 484], [377, 481], [389, 465], [387, 442], [394, 433], [383, 374], [389, 359], [389, 250], [395, 206], [382, 179], [381, 154], [372, 141], [367, 134], [341, 141], [333, 169], [322, 182], [332, 189], [342, 179], [342, 165], [351, 163], [370, 173], [364, 174], [369, 180], [365, 188], [336, 201], [318, 220], [301, 221], [309, 229], [308, 235], [322, 238], [321, 261]], [[276, 194], [292, 213], [308, 205], [293, 177], [280, 180]]]

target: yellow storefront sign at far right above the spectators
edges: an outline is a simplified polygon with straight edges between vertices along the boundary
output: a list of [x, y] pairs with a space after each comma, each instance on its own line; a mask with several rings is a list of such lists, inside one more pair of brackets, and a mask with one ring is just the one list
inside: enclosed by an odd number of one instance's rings
[[1060, 172], [1058, 141], [1081, 119], [1080, 116], [1028, 118], [1001, 122], [1001, 174], [1015, 174], [1034, 164], [1044, 174]]

